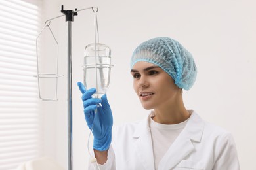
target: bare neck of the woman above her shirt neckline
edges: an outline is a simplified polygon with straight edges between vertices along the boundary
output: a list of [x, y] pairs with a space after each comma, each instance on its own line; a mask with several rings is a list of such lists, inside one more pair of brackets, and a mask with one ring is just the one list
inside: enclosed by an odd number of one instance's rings
[[190, 117], [190, 113], [184, 107], [182, 98], [175, 103], [165, 103], [154, 109], [154, 121], [160, 124], [179, 124]]

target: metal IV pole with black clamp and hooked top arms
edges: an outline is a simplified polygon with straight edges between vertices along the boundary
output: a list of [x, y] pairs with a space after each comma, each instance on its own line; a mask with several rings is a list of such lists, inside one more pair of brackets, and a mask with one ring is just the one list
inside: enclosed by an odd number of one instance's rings
[[[96, 11], [93, 9], [96, 8]], [[92, 9], [93, 12], [98, 12], [98, 7], [89, 7], [87, 10]], [[50, 24], [51, 20], [56, 18], [60, 18], [62, 16], [66, 16], [66, 22], [68, 22], [68, 170], [73, 169], [73, 149], [72, 149], [72, 22], [74, 21], [74, 16], [77, 16], [77, 12], [81, 11], [75, 9], [73, 10], [64, 10], [62, 5], [61, 11], [64, 15], [56, 16], [55, 18], [51, 18], [45, 22]], [[39, 75], [37, 75], [39, 76]], [[39, 77], [38, 77], [39, 78]]]

